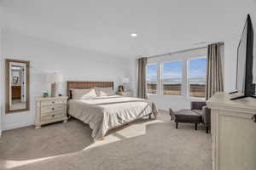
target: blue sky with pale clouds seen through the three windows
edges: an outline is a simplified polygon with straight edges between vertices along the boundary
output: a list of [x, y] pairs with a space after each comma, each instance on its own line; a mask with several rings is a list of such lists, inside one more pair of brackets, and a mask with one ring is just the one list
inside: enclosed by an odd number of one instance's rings
[[[189, 79], [193, 82], [202, 82], [205, 80], [207, 72], [207, 59], [189, 60]], [[166, 62], [163, 64], [162, 77], [164, 82], [181, 82], [183, 62]], [[147, 82], [156, 82], [157, 65], [147, 66]]]

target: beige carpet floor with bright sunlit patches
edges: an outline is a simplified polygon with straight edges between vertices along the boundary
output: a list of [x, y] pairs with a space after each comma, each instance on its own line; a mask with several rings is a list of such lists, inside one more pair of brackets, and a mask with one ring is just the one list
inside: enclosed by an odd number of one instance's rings
[[71, 120], [35, 130], [3, 132], [0, 169], [24, 170], [210, 170], [211, 136], [190, 124], [175, 129], [161, 111], [93, 142], [87, 125]]

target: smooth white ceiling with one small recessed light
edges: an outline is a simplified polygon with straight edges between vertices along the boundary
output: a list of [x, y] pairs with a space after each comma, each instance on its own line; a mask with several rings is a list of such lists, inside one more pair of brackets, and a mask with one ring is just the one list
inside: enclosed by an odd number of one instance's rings
[[[0, 0], [0, 3], [6, 29], [122, 57], [165, 54], [194, 48], [196, 42], [237, 39], [246, 14], [256, 9], [256, 0]], [[137, 32], [138, 36], [130, 37], [131, 32]]]

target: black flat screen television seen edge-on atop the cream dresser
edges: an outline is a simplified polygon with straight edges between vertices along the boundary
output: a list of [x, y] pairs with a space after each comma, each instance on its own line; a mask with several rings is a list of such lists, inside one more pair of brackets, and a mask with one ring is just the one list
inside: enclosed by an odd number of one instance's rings
[[243, 95], [232, 99], [255, 98], [255, 84], [253, 83], [253, 24], [249, 14], [237, 48], [236, 92]]

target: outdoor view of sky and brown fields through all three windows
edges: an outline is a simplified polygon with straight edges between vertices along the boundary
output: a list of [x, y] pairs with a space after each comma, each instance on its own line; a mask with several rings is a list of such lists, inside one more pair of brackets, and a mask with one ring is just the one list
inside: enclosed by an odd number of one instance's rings
[[[189, 96], [205, 97], [205, 83], [207, 73], [207, 57], [199, 59], [189, 59], [188, 74]], [[163, 86], [163, 94], [181, 95], [183, 75], [183, 62], [163, 62], [160, 74], [158, 65], [147, 65], [147, 90], [148, 94], [156, 94], [156, 82], [160, 81]], [[160, 78], [160, 80], [159, 80]]]

